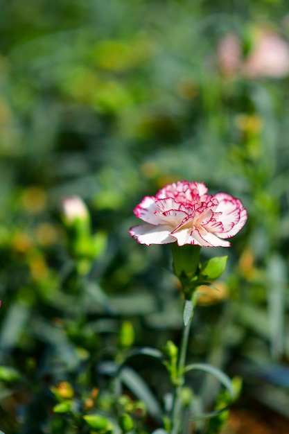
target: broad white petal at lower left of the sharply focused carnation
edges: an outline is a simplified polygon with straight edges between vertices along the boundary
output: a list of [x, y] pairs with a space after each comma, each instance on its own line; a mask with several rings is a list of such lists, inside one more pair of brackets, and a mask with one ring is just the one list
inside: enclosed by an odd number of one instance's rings
[[168, 244], [175, 243], [170, 235], [172, 227], [169, 225], [139, 225], [130, 228], [130, 235], [137, 238], [141, 244]]

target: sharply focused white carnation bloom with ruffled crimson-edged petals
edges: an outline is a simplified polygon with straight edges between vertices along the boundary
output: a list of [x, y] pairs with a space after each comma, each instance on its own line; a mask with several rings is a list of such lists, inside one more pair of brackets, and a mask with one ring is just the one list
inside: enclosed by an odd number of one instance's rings
[[130, 228], [141, 244], [194, 244], [202, 247], [229, 247], [247, 221], [239, 199], [227, 193], [207, 195], [202, 182], [178, 181], [155, 196], [146, 196], [134, 209], [143, 225]]

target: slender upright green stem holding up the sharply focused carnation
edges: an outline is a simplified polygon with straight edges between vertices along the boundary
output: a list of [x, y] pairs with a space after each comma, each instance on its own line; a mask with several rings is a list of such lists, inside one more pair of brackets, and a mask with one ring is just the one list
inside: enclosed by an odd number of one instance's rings
[[183, 326], [182, 342], [179, 350], [179, 361], [177, 364], [177, 385], [175, 386], [175, 392], [173, 396], [173, 408], [171, 413], [171, 434], [177, 434], [179, 432], [179, 421], [181, 416], [182, 405], [180, 402], [180, 394], [184, 385], [184, 368], [186, 365], [186, 352], [188, 349], [189, 333], [191, 329], [191, 321], [193, 318], [193, 311], [189, 322]]

